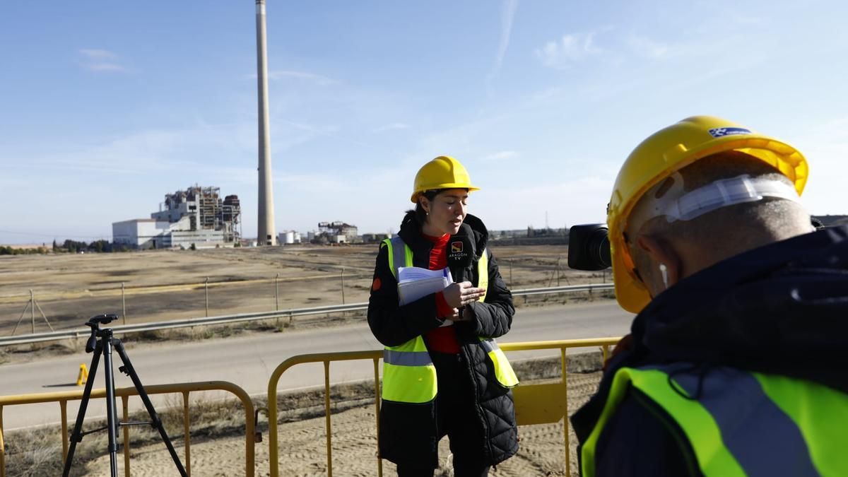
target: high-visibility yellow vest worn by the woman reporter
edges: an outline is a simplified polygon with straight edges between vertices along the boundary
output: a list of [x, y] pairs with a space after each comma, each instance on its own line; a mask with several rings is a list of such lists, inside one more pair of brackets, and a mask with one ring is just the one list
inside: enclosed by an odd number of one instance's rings
[[[388, 267], [394, 278], [398, 278], [399, 267], [412, 267], [412, 250], [403, 239], [394, 237], [383, 240], [388, 247]], [[488, 287], [488, 255], [477, 261], [477, 286]], [[486, 295], [479, 301], [486, 299]], [[491, 360], [498, 382], [507, 387], [518, 384], [516, 373], [494, 338], [478, 337], [480, 345]], [[427, 345], [421, 335], [403, 345], [386, 346], [383, 350], [382, 399], [387, 401], [422, 403], [432, 401], [438, 393], [436, 367], [432, 364]]]

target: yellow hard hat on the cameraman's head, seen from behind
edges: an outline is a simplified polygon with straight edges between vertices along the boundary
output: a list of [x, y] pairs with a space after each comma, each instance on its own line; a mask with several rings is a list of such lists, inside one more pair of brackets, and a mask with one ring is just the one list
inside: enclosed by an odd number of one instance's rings
[[808, 169], [803, 154], [773, 137], [712, 116], [692, 116], [655, 132], [624, 161], [606, 210], [612, 276], [616, 300], [622, 308], [638, 313], [650, 302], [648, 289], [636, 277], [624, 240], [633, 206], [642, 194], [675, 171], [708, 155], [730, 150], [766, 162], [789, 177], [799, 195], [804, 191]]

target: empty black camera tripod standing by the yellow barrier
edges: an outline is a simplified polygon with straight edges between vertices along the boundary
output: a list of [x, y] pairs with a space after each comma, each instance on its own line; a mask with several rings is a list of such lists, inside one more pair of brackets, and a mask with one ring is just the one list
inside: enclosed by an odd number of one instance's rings
[[[82, 393], [82, 400], [80, 401], [80, 412], [76, 414], [76, 424], [74, 425], [74, 432], [70, 435], [70, 448], [68, 449], [68, 457], [66, 457], [64, 460], [64, 472], [62, 473], [62, 475], [63, 477], [68, 477], [68, 473], [70, 472], [70, 463], [74, 460], [74, 451], [76, 449], [76, 443], [82, 441], [82, 436], [106, 429], [109, 432], [109, 461], [112, 467], [112, 477], [117, 477], [118, 428], [120, 426], [126, 425], [150, 424], [154, 428], [159, 429], [159, 435], [162, 435], [162, 441], [165, 441], [165, 446], [168, 446], [168, 452], [170, 452], [170, 457], [174, 459], [176, 469], [178, 469], [180, 471], [180, 474], [185, 477], [187, 475], [186, 469], [182, 467], [180, 457], [176, 455], [174, 446], [170, 443], [170, 439], [168, 438], [168, 433], [165, 432], [165, 427], [162, 426], [162, 420], [159, 419], [159, 415], [156, 413], [156, 410], [153, 409], [153, 403], [150, 402], [148, 393], [144, 390], [144, 386], [142, 386], [141, 380], [138, 379], [136, 370], [132, 368], [130, 358], [126, 356], [126, 351], [124, 351], [124, 345], [120, 342], [120, 340], [112, 336], [112, 328], [100, 329], [100, 323], [108, 324], [116, 319], [118, 319], [117, 315], [98, 315], [96, 317], [92, 317], [92, 319], [88, 320], [88, 323], [86, 323], [86, 326], [90, 326], [92, 328], [92, 335], [88, 338], [88, 342], [86, 343], [86, 353], [94, 351], [94, 356], [92, 356], [92, 366], [90, 368], [90, 371], [88, 372], [86, 390]], [[130, 379], [132, 379], [132, 384], [136, 385], [136, 390], [138, 390], [138, 396], [142, 398], [142, 401], [144, 402], [144, 407], [147, 407], [148, 414], [150, 414], [149, 421], [142, 421], [137, 423], [118, 422], [117, 414], [114, 408], [114, 378], [112, 374], [113, 346], [114, 349], [118, 351], [118, 355], [120, 355], [120, 361], [124, 362], [124, 366], [121, 366], [120, 368], [118, 368], [118, 370], [121, 373], [125, 373], [127, 376], [129, 376]], [[98, 362], [101, 354], [106, 355], [106, 363], [104, 365], [104, 367], [106, 368], [106, 427], [82, 432], [82, 420], [86, 416], [86, 407], [88, 407], [88, 399], [92, 396], [92, 384], [94, 383], [94, 374], [98, 371]]]

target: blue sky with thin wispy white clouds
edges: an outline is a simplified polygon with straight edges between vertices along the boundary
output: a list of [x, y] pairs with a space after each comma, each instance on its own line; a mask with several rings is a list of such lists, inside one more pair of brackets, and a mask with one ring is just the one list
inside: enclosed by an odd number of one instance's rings
[[[267, 7], [276, 229], [397, 230], [460, 159], [489, 228], [605, 220], [650, 133], [718, 115], [793, 143], [848, 213], [844, 2], [283, 2]], [[0, 243], [110, 239], [164, 194], [238, 194], [256, 231], [255, 8], [0, 3]]]

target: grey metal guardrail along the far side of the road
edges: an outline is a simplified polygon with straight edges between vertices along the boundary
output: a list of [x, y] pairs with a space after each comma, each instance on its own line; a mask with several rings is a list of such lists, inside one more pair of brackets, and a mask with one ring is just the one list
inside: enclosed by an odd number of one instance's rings
[[[557, 293], [589, 292], [611, 290], [612, 283], [589, 283], [585, 285], [568, 285], [563, 287], [549, 287], [539, 289], [513, 290], [513, 296], [548, 295]], [[368, 303], [350, 303], [348, 305], [314, 306], [310, 308], [292, 308], [290, 310], [258, 311], [254, 313], [238, 313], [235, 315], [222, 315], [220, 317], [197, 317], [181, 320], [171, 320], [156, 323], [138, 323], [117, 325], [111, 327], [114, 333], [130, 334], [144, 331], [154, 331], [169, 328], [187, 328], [192, 326], [204, 326], [212, 324], [240, 323], [257, 320], [267, 320], [280, 317], [304, 317], [308, 315], [321, 315], [326, 313], [340, 313], [343, 311], [360, 311], [368, 309]], [[76, 340], [87, 338], [92, 333], [89, 328], [75, 328], [47, 333], [20, 334], [13, 336], [0, 336], [2, 345], [25, 345], [28, 343], [40, 343], [42, 341]]]

